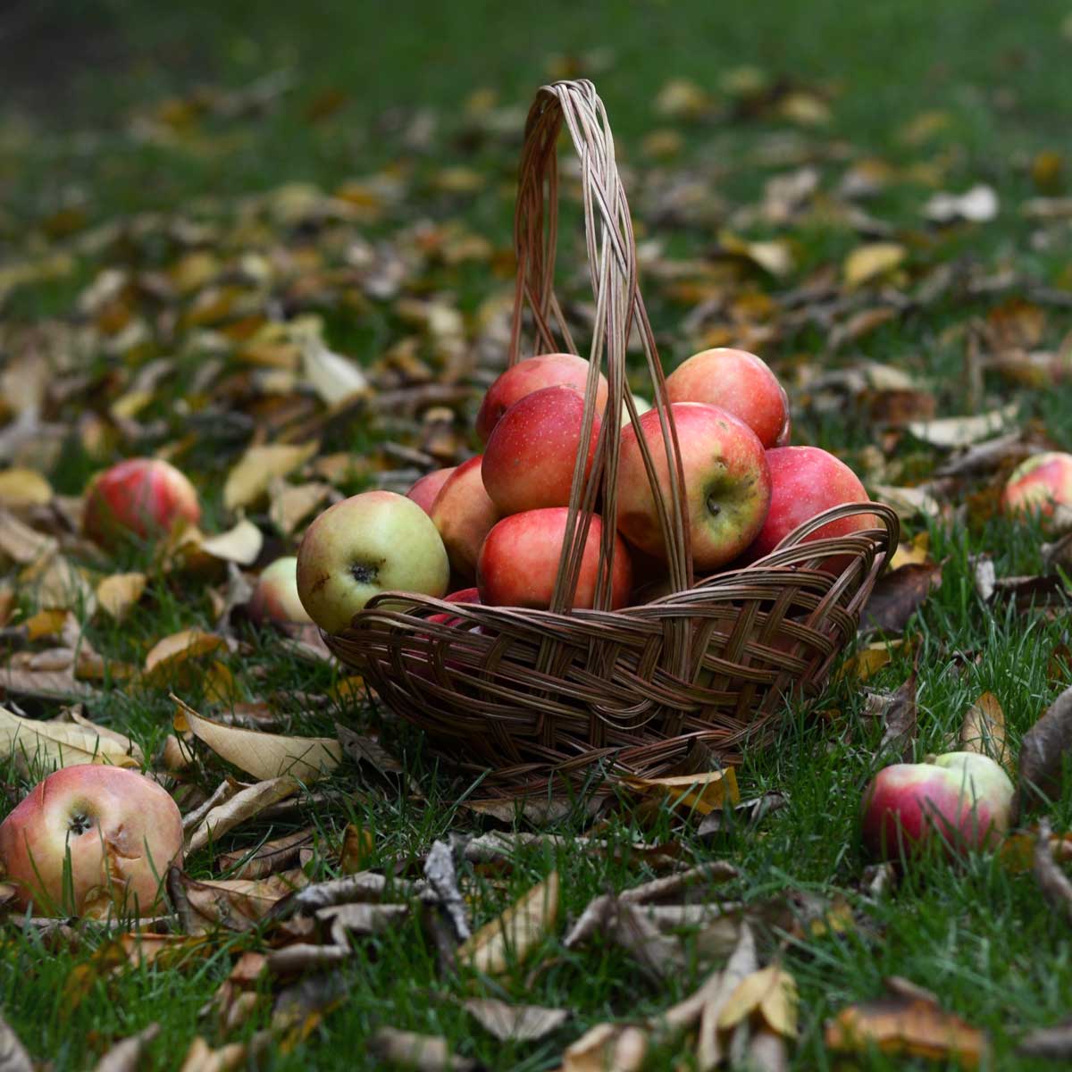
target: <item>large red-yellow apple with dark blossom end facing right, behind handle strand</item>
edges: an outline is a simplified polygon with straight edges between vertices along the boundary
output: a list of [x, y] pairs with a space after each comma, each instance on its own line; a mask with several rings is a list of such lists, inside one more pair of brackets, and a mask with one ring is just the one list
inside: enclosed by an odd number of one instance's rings
[[[712, 570], [735, 559], [763, 525], [771, 502], [766, 457], [756, 433], [725, 410], [675, 402], [670, 412], [681, 447], [693, 561], [698, 569]], [[639, 426], [669, 509], [670, 467], [658, 411], [645, 413]], [[622, 431], [617, 527], [641, 551], [667, 561], [655, 496], [632, 425]]]

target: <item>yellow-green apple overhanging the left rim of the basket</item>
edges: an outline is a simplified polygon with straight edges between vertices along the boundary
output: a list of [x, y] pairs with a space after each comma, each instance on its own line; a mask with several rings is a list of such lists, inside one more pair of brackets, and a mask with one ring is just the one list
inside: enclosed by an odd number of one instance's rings
[[442, 596], [450, 565], [432, 519], [393, 491], [329, 506], [298, 548], [298, 595], [325, 632], [338, 632], [381, 592]]

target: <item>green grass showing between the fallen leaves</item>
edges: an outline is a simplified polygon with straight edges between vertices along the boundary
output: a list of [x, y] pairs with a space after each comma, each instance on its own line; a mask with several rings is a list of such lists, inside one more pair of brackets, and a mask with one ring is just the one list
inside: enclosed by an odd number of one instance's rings
[[[994, 272], [1010, 269], [1017, 281], [1011, 294], [1029, 285], [1067, 287], [1064, 247], [1038, 240], [1043, 229], [1018, 211], [1025, 198], [1047, 192], [1036, 189], [1031, 161], [1040, 151], [1060, 150], [1067, 137], [1070, 96], [1057, 76], [1072, 53], [1072, 42], [1060, 30], [1067, 11], [1063, 0], [1036, 0], [1029, 16], [972, 0], [941, 5], [897, 0], [851, 11], [836, 0], [771, 0], [741, 10], [693, 0], [672, 5], [623, 0], [598, 5], [551, 2], [538, 12], [501, 3], [400, 0], [387, 16], [369, 4], [324, 0], [301, 5], [190, 0], [166, 10], [134, 0], [94, 0], [74, 14], [59, 4], [42, 4], [26, 24], [30, 30], [18, 31], [32, 33], [29, 40], [41, 62], [19, 68], [14, 103], [6, 115], [0, 111], [0, 144], [10, 150], [0, 153], [0, 279], [5, 263], [43, 253], [73, 250], [74, 264], [70, 274], [58, 280], [6, 292], [0, 286], [0, 314], [16, 328], [70, 317], [76, 296], [104, 266], [77, 245], [87, 228], [149, 210], [229, 221], [233, 198], [294, 181], [336, 190], [355, 176], [391, 166], [407, 169], [407, 200], [362, 230], [362, 237], [389, 239], [423, 218], [461, 222], [502, 248], [509, 235], [516, 146], [494, 138], [474, 140], [464, 119], [465, 102], [475, 91], [490, 88], [501, 104], [525, 106], [534, 87], [562, 69], [563, 56], [590, 68], [607, 64], [595, 77], [614, 122], [621, 157], [636, 177], [630, 196], [634, 190], [651, 192], [653, 176], [664, 168], [695, 174], [705, 193], [731, 210], [754, 203], [768, 178], [790, 169], [764, 155], [787, 135], [821, 150], [822, 189], [830, 190], [846, 167], [837, 146], [848, 146], [853, 159], [877, 157], [896, 168], [939, 167], [941, 189], [963, 190], [984, 181], [997, 190], [997, 220], [941, 232], [922, 225], [920, 206], [933, 189], [910, 173], [902, 173], [868, 202], [867, 211], [891, 221], [897, 239], [908, 247], [910, 268], [949, 263], [958, 271], [972, 265]], [[106, 74], [99, 63], [83, 64], [80, 41], [87, 43], [86, 55], [106, 59]], [[590, 56], [600, 48], [609, 55]], [[777, 114], [735, 114], [723, 79], [745, 64], [772, 83], [789, 79], [829, 100], [830, 123], [801, 128]], [[62, 70], [63, 77], [53, 79], [58, 85], [43, 85], [46, 79], [34, 68]], [[274, 72], [285, 73], [291, 88], [265, 113], [227, 118], [196, 111], [192, 94], [197, 85], [235, 90]], [[711, 122], [660, 118], [653, 102], [676, 76], [710, 90], [725, 113]], [[175, 122], [165, 126], [168, 137], [146, 140], [132, 134], [132, 118], [159, 119], [161, 102], [168, 99], [185, 102], [169, 106]], [[402, 144], [401, 132], [419, 108], [431, 108], [436, 122], [427, 151]], [[930, 111], [940, 111], [944, 125], [922, 139], [906, 137], [909, 125], [914, 122], [919, 130], [920, 116]], [[682, 133], [681, 157], [661, 162], [647, 154], [644, 138], [659, 128]], [[436, 177], [450, 166], [488, 176], [485, 192], [443, 193]], [[222, 208], [199, 208], [206, 197]], [[62, 232], [58, 210], [68, 206], [81, 215], [70, 236], [57, 233]], [[641, 210], [642, 237], [664, 240], [667, 256], [682, 259], [709, 256], [726, 223], [659, 224], [646, 217]], [[229, 240], [226, 226], [222, 232]], [[777, 234], [778, 228], [764, 224], [748, 229], [749, 238]], [[1054, 232], [1046, 234], [1054, 238]], [[564, 238], [564, 263], [569, 262], [574, 237]], [[836, 269], [859, 243], [851, 227], [821, 215], [793, 228], [790, 237], [796, 263], [789, 277], [774, 281], [761, 273], [745, 274], [733, 277], [732, 286], [749, 294], [789, 289], [816, 270]], [[309, 237], [284, 229], [282, 243], [301, 249]], [[109, 264], [159, 270], [174, 264], [176, 250], [164, 239], [152, 239], [108, 255]], [[503, 287], [501, 273], [477, 263], [437, 265], [415, 289], [426, 297], [448, 294], [472, 316], [486, 297]], [[824, 330], [814, 325], [793, 328], [764, 356], [792, 376], [801, 367], [837, 367], [863, 355], [923, 377], [933, 387], [939, 414], [963, 413], [968, 405], [964, 342], [956, 330], [969, 317], [985, 316], [1003, 298], [965, 298], [951, 292], [838, 354], [828, 349]], [[681, 328], [690, 304], [660, 285], [652, 286], [649, 300], [671, 364], [693, 347], [694, 340]], [[413, 330], [389, 301], [324, 312], [330, 344], [369, 362]], [[1067, 310], [1052, 310], [1039, 345], [1056, 347], [1069, 327]], [[175, 381], [147, 411], [165, 421], [176, 437], [181, 420], [175, 402], [190, 392], [206, 355], [194, 348], [178, 358]], [[106, 376], [116, 364], [116, 358], [103, 352], [91, 360], [94, 376]], [[1008, 397], [1021, 400], [1024, 419], [1039, 420], [1058, 445], [1072, 447], [1072, 389], [1067, 382], [1038, 390], [1010, 387], [988, 375], [986, 404]], [[866, 459], [875, 428], [864, 410], [839, 406], [824, 412], [805, 398], [798, 401], [796, 442], [825, 446], [854, 464]], [[72, 410], [84, 404], [86, 400], [78, 400]], [[209, 520], [222, 527], [226, 515], [220, 488], [226, 463], [244, 445], [244, 433], [211, 422], [202, 427], [204, 434], [184, 463], [197, 475]], [[358, 423], [331, 432], [325, 450], [370, 453], [378, 438]], [[910, 482], [930, 472], [935, 455], [905, 440], [890, 461], [899, 477], [888, 482]], [[72, 440], [49, 475], [57, 490], [76, 494], [99, 465], [99, 459]], [[921, 526], [917, 520], [909, 527]], [[969, 556], [989, 553], [999, 576], [1037, 572], [1040, 534], [988, 519], [934, 523], [930, 540], [933, 556], [944, 564], [942, 584], [906, 630], [918, 649], [915, 756], [939, 750], [968, 705], [987, 690], [1001, 702], [1015, 748], [1069, 684], [1067, 669], [1051, 659], [1069, 643], [1067, 617], [982, 604]], [[151, 552], [134, 549], [110, 561], [108, 568], [151, 570]], [[32, 611], [29, 593], [20, 593], [20, 605], [24, 612]], [[207, 598], [157, 572], [149, 598], [122, 627], [98, 617], [86, 624], [86, 636], [109, 657], [139, 664], [159, 637], [210, 623]], [[330, 690], [333, 678], [327, 668], [283, 655], [268, 634], [251, 632], [244, 639], [249, 653], [229, 661], [240, 699]], [[896, 654], [867, 687], [895, 688], [909, 669], [909, 658]], [[183, 696], [197, 706], [204, 699], [197, 683], [185, 686]], [[28, 703], [26, 709], [49, 717], [56, 704]], [[821, 723], [825, 732], [812, 717], [815, 709], [831, 713]], [[339, 717], [356, 725], [375, 718], [341, 701], [325, 710], [307, 711], [300, 704], [292, 710], [294, 732], [300, 733], [330, 734]], [[1023, 1030], [1067, 1016], [1072, 947], [1067, 924], [1045, 907], [1029, 874], [1010, 873], [995, 857], [974, 857], [957, 866], [929, 859], [892, 893], [876, 899], [861, 891], [866, 860], [859, 848], [858, 807], [874, 774], [881, 736], [881, 727], [868, 723], [863, 711], [862, 688], [851, 680], [836, 681], [812, 709], [793, 705], [787, 711], [776, 746], [747, 757], [739, 772], [746, 796], [777, 790], [788, 799], [758, 829], [730, 821], [713, 840], [701, 840], [695, 821], [682, 824], [664, 812], [653, 829], [641, 829], [635, 813], [623, 807], [605, 832], [620, 847], [616, 855], [568, 847], [525, 849], [508, 869], [466, 865], [463, 882], [474, 923], [493, 919], [553, 868], [562, 876], [563, 914], [574, 919], [593, 896], [650, 877], [649, 864], [630, 848], [634, 842], [674, 842], [687, 860], [725, 858], [740, 866], [742, 877], [726, 888], [728, 897], [758, 906], [787, 892], [839, 894], [852, 906], [858, 922], [845, 934], [784, 936], [785, 964], [801, 993], [801, 1038], [793, 1068], [940, 1067], [880, 1053], [840, 1058], [827, 1052], [825, 1019], [848, 1002], [880, 995], [882, 980], [891, 974], [934, 989], [946, 1008], [989, 1031], [989, 1067], [1046, 1067], [1017, 1058], [1014, 1046]], [[169, 732], [172, 706], [166, 687], [135, 680], [115, 683], [92, 715], [129, 732], [148, 755]], [[307, 810], [270, 830], [267, 824], [256, 828], [257, 836], [279, 836], [315, 822], [322, 839], [330, 844], [347, 821], [359, 820], [374, 833], [371, 866], [391, 874], [396, 866], [404, 872], [419, 867], [434, 838], [472, 830], [472, 819], [457, 807], [471, 787], [435, 770], [416, 734], [391, 732], [427, 801], [370, 786], [362, 772], [347, 766], [332, 779], [329, 807]], [[10, 763], [3, 773], [14, 801], [38, 772], [28, 776]], [[205, 788], [212, 788], [214, 777], [205, 775]], [[1072, 822], [1069, 792], [1054, 805], [1053, 821], [1056, 829]], [[583, 825], [572, 818], [551, 830], [579, 833]], [[243, 829], [219, 848], [249, 847], [251, 836]], [[215, 847], [197, 853], [189, 861], [190, 874], [213, 874], [215, 854]], [[330, 859], [326, 854], [316, 863], [314, 877], [331, 875], [325, 862]], [[567, 952], [561, 936], [560, 928], [559, 937], [536, 951], [530, 967], [538, 970], [532, 976], [519, 971], [497, 982], [465, 977], [450, 986], [437, 977], [431, 946], [416, 919], [362, 939], [351, 964], [327, 979], [314, 977], [302, 984], [313, 993], [323, 989], [321, 1003], [338, 1000], [322, 1019], [307, 1024], [308, 1037], [293, 1034], [266, 1056], [265, 1064], [279, 1070], [373, 1069], [377, 1061], [367, 1052], [366, 1040], [378, 1026], [390, 1025], [443, 1034], [458, 1053], [489, 1068], [550, 1069], [559, 1063], [563, 1047], [587, 1027], [655, 1014], [690, 993], [705, 972], [702, 938], [695, 933], [683, 939], [686, 969], [659, 982], [641, 974], [635, 962], [613, 947], [597, 941], [593, 948]], [[198, 1015], [226, 978], [235, 954], [253, 948], [256, 935], [215, 943], [209, 952], [190, 954], [167, 968], [134, 967], [115, 977], [91, 971], [87, 986], [77, 989], [75, 983], [86, 966], [96, 963], [102, 943], [88, 932], [77, 949], [50, 948], [11, 925], [4, 928], [0, 1008], [30, 1053], [50, 1061], [57, 1072], [89, 1067], [91, 1056], [108, 1042], [150, 1022], [162, 1028], [150, 1049], [152, 1067], [161, 1069], [178, 1066], [195, 1033], [222, 1044], [250, 1038], [268, 1023], [270, 1003], [225, 1038], [210, 1018]], [[338, 994], [336, 986], [341, 987]], [[462, 1010], [459, 998], [471, 993], [561, 1006], [574, 1010], [575, 1017], [544, 1042], [501, 1044], [475, 1030]], [[669, 1043], [651, 1067], [681, 1062], [689, 1068], [690, 1059], [684, 1044]]]

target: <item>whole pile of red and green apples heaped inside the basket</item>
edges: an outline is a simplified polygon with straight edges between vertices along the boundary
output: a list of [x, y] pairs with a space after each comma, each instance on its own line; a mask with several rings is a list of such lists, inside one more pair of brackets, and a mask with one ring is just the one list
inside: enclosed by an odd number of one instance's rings
[[[600, 375], [585, 436], [589, 362], [572, 354], [520, 361], [488, 389], [476, 418], [483, 453], [421, 477], [406, 496], [364, 492], [322, 513], [298, 550], [297, 586], [328, 632], [347, 626], [379, 592], [400, 590], [457, 602], [546, 609], [554, 589], [578, 459], [591, 467], [607, 404]], [[842, 461], [788, 446], [785, 390], [754, 354], [708, 349], [668, 378], [685, 477], [698, 576], [772, 551], [800, 524], [843, 503], [867, 500]], [[646, 404], [645, 404], [646, 406]], [[658, 413], [620, 433], [617, 533], [611, 606], [659, 592], [667, 552], [638, 436], [660, 487], [669, 468]], [[810, 538], [846, 535], [873, 519], [853, 516]], [[592, 519], [571, 606], [595, 601], [602, 519]]]

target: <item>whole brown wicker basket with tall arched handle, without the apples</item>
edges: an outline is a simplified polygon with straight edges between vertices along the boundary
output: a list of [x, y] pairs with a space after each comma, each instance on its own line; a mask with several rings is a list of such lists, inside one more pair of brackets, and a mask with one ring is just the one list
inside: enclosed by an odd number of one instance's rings
[[[515, 244], [517, 293], [509, 363], [522, 352], [578, 353], [554, 296], [556, 144], [563, 122], [581, 161], [585, 236], [596, 322], [585, 402], [586, 441], [596, 376], [610, 386], [600, 438], [585, 479], [574, 473], [570, 531], [550, 610], [446, 604], [386, 594], [349, 628], [326, 637], [390, 710], [426, 731], [455, 768], [488, 772], [485, 787], [507, 793], [576, 786], [593, 776], [658, 775], [698, 744], [724, 761], [762, 746], [788, 693], [819, 691], [855, 636], [875, 580], [897, 544], [892, 510], [838, 507], [792, 533], [745, 569], [697, 582], [693, 576], [676, 436], [655, 340], [637, 285], [636, 243], [614, 163], [607, 116], [591, 83], [560, 81], [536, 96], [525, 126]], [[611, 611], [614, 525], [602, 526], [594, 610], [567, 610], [594, 506], [615, 517], [617, 429], [637, 413], [626, 384], [626, 341], [638, 331], [669, 457], [668, 487], [656, 487], [669, 549], [672, 593]], [[643, 440], [640, 441], [643, 443]], [[654, 480], [651, 457], [646, 459]], [[875, 527], [804, 542], [851, 513]]]

